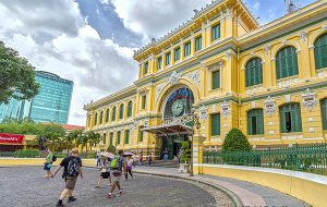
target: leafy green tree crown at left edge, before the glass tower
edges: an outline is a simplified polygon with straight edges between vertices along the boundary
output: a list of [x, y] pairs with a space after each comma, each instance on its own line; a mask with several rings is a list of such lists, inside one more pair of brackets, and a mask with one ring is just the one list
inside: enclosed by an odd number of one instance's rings
[[0, 104], [11, 98], [31, 100], [38, 93], [35, 69], [19, 52], [0, 41]]

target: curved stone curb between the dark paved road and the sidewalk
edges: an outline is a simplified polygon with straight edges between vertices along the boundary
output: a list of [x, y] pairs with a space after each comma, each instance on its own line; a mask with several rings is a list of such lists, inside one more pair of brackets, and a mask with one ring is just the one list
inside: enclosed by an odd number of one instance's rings
[[242, 200], [240, 199], [240, 197], [234, 194], [232, 191], [221, 186], [221, 185], [217, 185], [217, 184], [213, 184], [213, 183], [209, 183], [207, 181], [203, 181], [201, 179], [189, 179], [189, 178], [185, 178], [185, 176], [179, 176], [179, 175], [168, 175], [168, 174], [160, 174], [160, 173], [153, 173], [153, 172], [137, 172], [137, 171], [133, 171], [134, 173], [136, 174], [149, 174], [149, 175], [156, 175], [156, 176], [164, 176], [164, 178], [173, 178], [173, 179], [181, 179], [181, 180], [186, 180], [186, 181], [196, 181], [196, 182], [199, 182], [202, 184], [205, 184], [205, 185], [209, 185], [210, 187], [213, 188], [216, 188], [216, 190], [219, 190], [219, 191], [222, 191], [225, 192], [234, 203], [234, 205], [237, 207], [243, 207], [243, 203]]

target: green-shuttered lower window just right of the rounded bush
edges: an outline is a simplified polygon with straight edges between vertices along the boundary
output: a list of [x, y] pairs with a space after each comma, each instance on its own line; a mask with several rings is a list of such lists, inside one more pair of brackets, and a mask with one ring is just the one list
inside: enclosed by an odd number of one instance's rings
[[264, 134], [263, 109], [253, 109], [247, 112], [247, 134]]

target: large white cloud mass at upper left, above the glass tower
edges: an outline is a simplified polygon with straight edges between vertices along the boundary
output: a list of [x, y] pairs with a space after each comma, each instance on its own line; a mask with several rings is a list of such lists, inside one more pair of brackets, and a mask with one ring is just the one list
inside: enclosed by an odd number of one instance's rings
[[0, 0], [0, 38], [37, 70], [74, 82], [69, 123], [84, 125], [83, 105], [126, 87], [136, 78], [134, 48], [100, 39], [73, 1]]

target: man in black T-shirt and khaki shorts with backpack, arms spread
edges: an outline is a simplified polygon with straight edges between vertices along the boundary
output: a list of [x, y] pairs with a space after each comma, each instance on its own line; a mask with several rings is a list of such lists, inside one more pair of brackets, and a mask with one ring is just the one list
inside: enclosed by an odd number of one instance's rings
[[57, 207], [63, 206], [62, 200], [69, 196], [68, 202], [75, 202], [76, 198], [74, 197], [74, 188], [77, 181], [77, 176], [81, 175], [83, 179], [83, 170], [82, 170], [82, 159], [78, 157], [78, 149], [74, 148], [72, 150], [71, 156], [65, 157], [56, 171], [50, 175], [55, 178], [59, 170], [63, 167], [63, 174], [62, 178], [65, 181], [65, 187], [60, 195], [60, 198], [57, 203]]

